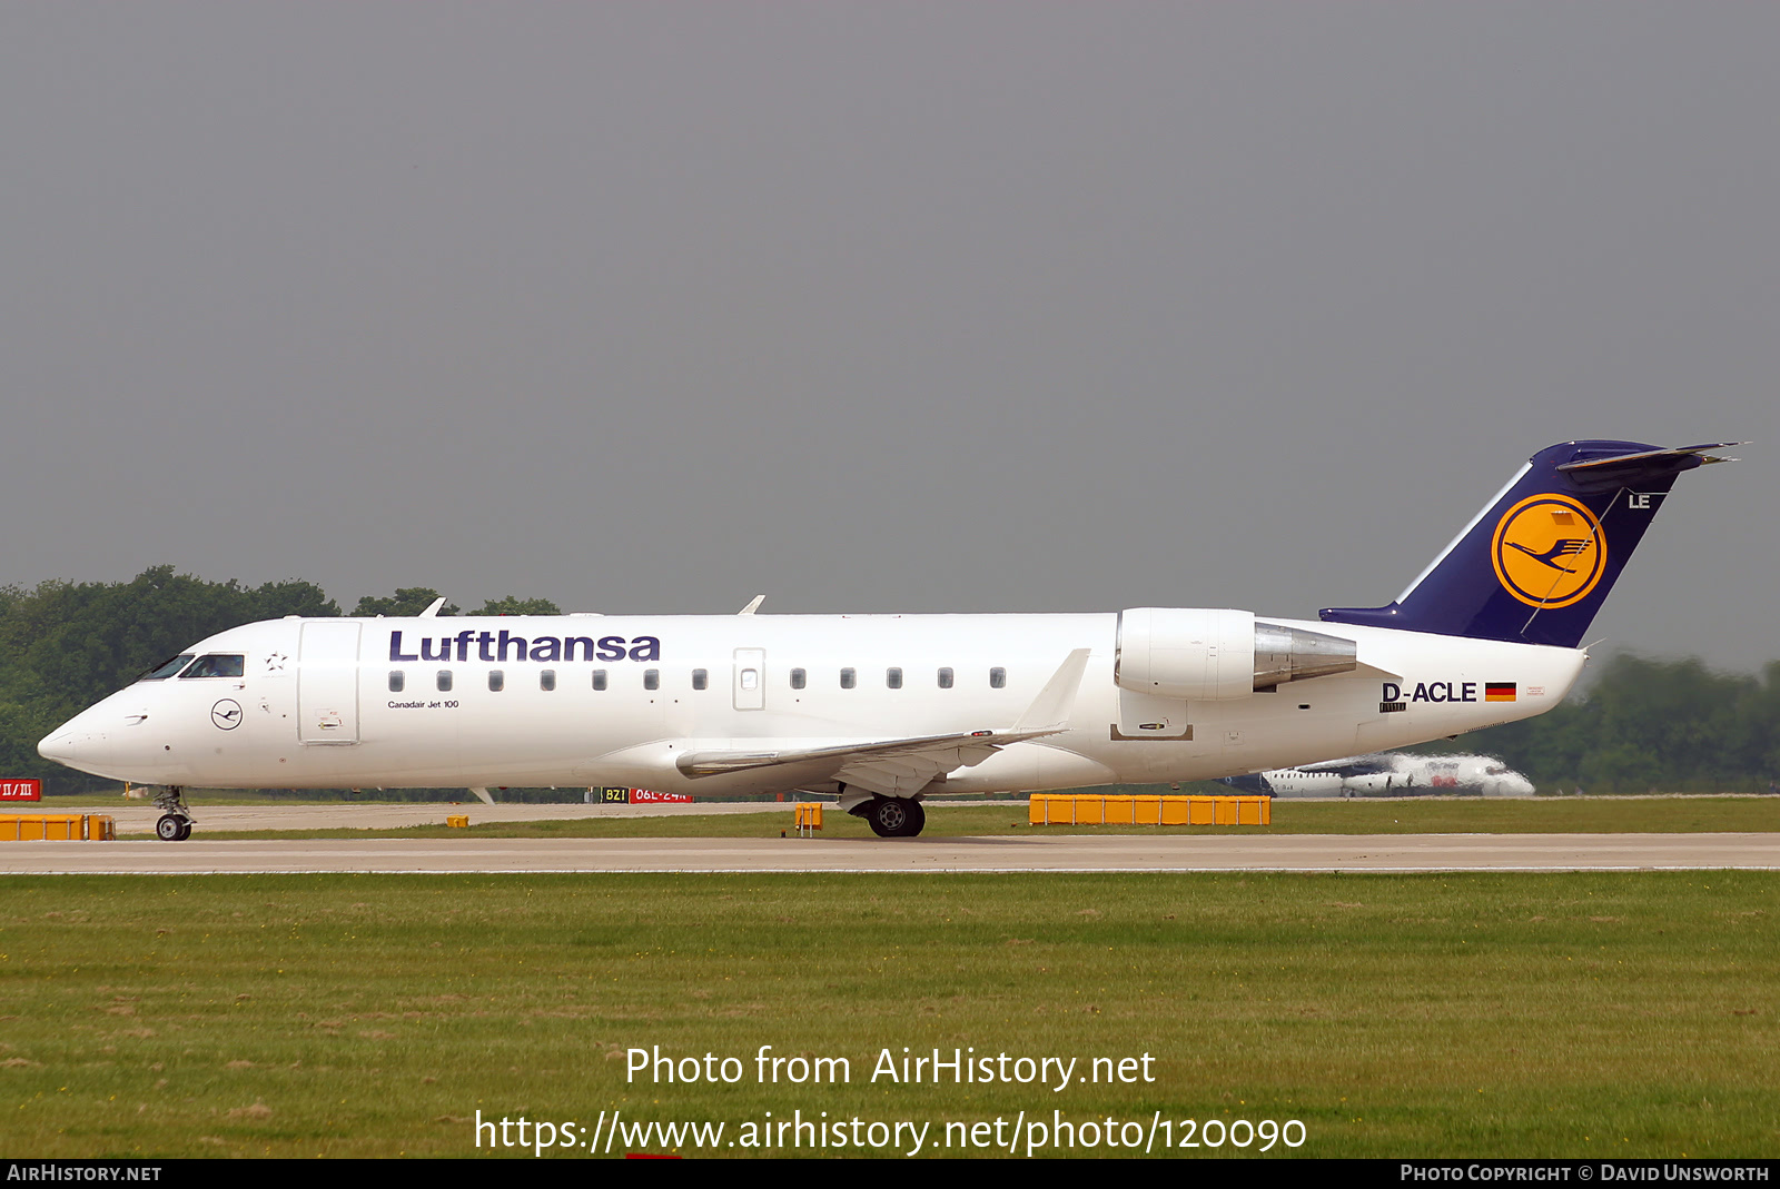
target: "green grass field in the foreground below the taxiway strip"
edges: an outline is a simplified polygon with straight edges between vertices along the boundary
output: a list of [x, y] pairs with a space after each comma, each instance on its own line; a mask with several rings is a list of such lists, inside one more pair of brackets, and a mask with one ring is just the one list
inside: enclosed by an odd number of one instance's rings
[[[967, 1153], [936, 1148], [945, 1121], [1020, 1111], [1299, 1120], [1296, 1152], [1315, 1157], [1780, 1152], [1775, 874], [11, 876], [0, 890], [14, 1157], [470, 1157], [490, 1153], [477, 1111], [591, 1127], [614, 1109], [723, 1121], [723, 1143], [767, 1111], [927, 1121], [924, 1155]], [[746, 1077], [627, 1084], [625, 1050], [651, 1045], [742, 1057]], [[847, 1057], [853, 1079], [756, 1084], [760, 1045]], [[1155, 1080], [872, 1084], [879, 1050], [904, 1045], [1084, 1070], [1150, 1054]]]

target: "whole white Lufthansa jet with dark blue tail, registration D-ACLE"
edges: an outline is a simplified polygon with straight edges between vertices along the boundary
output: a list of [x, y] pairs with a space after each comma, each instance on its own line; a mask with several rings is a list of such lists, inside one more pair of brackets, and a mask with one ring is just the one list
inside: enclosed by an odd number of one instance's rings
[[288, 618], [192, 644], [37, 749], [158, 785], [167, 840], [190, 835], [185, 789], [440, 785], [828, 792], [906, 837], [940, 792], [1383, 751], [1556, 707], [1670, 484], [1719, 445], [1549, 447], [1394, 603], [1321, 621], [758, 616], [758, 600], [737, 616]]

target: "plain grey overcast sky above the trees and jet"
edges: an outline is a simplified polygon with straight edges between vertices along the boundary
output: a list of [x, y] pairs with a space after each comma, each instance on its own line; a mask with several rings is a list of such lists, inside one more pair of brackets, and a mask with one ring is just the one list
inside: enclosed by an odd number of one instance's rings
[[1753, 438], [1775, 4], [0, 4], [0, 582], [1314, 616], [1529, 454]]

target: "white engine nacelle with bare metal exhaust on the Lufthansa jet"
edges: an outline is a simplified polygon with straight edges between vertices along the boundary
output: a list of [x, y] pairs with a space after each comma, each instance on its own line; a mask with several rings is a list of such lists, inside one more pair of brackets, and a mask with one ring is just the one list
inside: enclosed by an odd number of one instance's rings
[[1353, 641], [1257, 623], [1248, 611], [1134, 607], [1118, 616], [1112, 680], [1159, 698], [1223, 701], [1356, 666]]

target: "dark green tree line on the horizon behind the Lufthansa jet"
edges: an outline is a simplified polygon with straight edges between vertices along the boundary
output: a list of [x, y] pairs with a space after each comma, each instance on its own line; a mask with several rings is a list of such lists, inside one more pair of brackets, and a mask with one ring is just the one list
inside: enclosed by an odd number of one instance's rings
[[[367, 594], [349, 614], [413, 616], [438, 591]], [[206, 582], [173, 566], [128, 582], [0, 587], [0, 776], [43, 776], [46, 789], [107, 781], [37, 755], [37, 740], [150, 666], [224, 628], [279, 616], [338, 616], [313, 582]], [[461, 614], [445, 605], [440, 614]], [[546, 598], [495, 598], [470, 614], [561, 614]], [[1609, 659], [1556, 710], [1463, 737], [1501, 756], [1540, 792], [1768, 792], [1780, 780], [1780, 662], [1760, 675], [1714, 673], [1700, 660]], [[1445, 740], [1419, 748], [1451, 751]], [[1333, 758], [1333, 756], [1331, 756]]]

